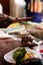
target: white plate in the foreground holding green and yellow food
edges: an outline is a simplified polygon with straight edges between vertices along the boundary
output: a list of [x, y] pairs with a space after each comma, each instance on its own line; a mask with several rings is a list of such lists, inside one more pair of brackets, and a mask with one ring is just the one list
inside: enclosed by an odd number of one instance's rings
[[[12, 51], [6, 53], [6, 54], [4, 55], [5, 61], [7, 61], [7, 62], [9, 62], [9, 63], [14, 63], [14, 64], [15, 64], [16, 61], [13, 59], [13, 53], [14, 53], [17, 49], [20, 49], [20, 48], [22, 48], [22, 47], [15, 48], [14, 50], [12, 50]], [[28, 52], [28, 51], [33, 52], [33, 53], [36, 54], [37, 57], [41, 58], [41, 55], [40, 55], [38, 52], [36, 52], [36, 51], [34, 51], [34, 50], [31, 50], [31, 49], [29, 49], [28, 47], [25, 47], [25, 49], [26, 49], [27, 52]]]

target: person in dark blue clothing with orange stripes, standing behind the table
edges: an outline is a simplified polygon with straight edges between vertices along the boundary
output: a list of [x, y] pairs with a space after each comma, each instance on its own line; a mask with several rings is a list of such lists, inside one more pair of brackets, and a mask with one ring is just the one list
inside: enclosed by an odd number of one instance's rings
[[32, 22], [40, 23], [42, 21], [42, 2], [43, 0], [25, 0], [26, 17], [33, 16]]

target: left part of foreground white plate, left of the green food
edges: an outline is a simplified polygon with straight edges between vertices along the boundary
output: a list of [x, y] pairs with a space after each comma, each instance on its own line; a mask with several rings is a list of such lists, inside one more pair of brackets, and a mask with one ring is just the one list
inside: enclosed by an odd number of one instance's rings
[[15, 60], [13, 60], [13, 53], [17, 50], [18, 48], [8, 52], [7, 54], [4, 55], [4, 59], [9, 62], [9, 63], [16, 63]]

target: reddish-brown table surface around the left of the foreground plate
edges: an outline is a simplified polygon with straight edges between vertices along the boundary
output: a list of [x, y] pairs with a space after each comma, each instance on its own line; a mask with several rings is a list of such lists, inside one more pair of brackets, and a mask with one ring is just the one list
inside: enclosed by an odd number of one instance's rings
[[12, 38], [0, 39], [0, 65], [14, 65], [6, 62], [3, 57], [8, 51], [11, 51], [19, 46], [22, 46], [21, 42], [15, 41]]

